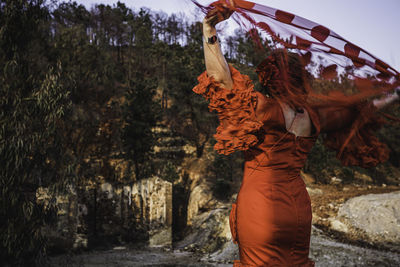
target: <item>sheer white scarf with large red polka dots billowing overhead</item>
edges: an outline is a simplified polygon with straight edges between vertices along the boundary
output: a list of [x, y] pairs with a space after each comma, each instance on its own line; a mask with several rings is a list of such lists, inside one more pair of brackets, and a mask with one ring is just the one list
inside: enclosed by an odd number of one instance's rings
[[[302, 55], [310, 61], [313, 53], [322, 56], [327, 67], [322, 71], [326, 78], [333, 78], [336, 64], [345, 67], [354, 67], [360, 70], [359, 75], [369, 74], [376, 81], [382, 82], [385, 90], [394, 89], [399, 85], [400, 73], [382, 60], [361, 47], [347, 41], [334, 31], [316, 22], [283, 10], [252, 3], [243, 0], [216, 1], [209, 6], [202, 6], [193, 1], [204, 13], [214, 8], [233, 11], [232, 18], [243, 28], [247, 29], [257, 39], [257, 32], [267, 33], [275, 41], [289, 49], [304, 52]], [[329, 64], [331, 63], [331, 64]], [[335, 64], [336, 63], [336, 64]], [[364, 76], [362, 79], [364, 81]], [[362, 84], [366, 87], [366, 84]], [[380, 88], [381, 90], [384, 90]]]

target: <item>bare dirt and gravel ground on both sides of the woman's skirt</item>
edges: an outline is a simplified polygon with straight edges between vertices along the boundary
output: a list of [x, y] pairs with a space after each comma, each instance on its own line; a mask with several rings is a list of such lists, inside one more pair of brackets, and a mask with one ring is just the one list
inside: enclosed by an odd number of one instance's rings
[[[331, 231], [329, 218], [336, 216], [346, 200], [366, 194], [400, 190], [400, 186], [316, 185], [308, 184], [313, 209], [313, 234], [310, 257], [316, 266], [400, 266], [400, 253], [374, 247], [351, 235]], [[130, 266], [217, 266], [232, 263], [204, 261], [204, 255], [165, 248], [115, 247], [51, 257], [51, 267], [130, 267]]]

